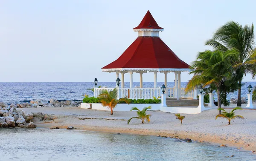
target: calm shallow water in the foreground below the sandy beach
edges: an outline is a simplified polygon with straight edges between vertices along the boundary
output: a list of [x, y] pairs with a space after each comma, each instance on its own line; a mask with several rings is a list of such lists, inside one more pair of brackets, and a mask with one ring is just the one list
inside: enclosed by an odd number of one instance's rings
[[66, 129], [0, 129], [0, 136], [0, 161], [256, 160], [250, 151], [233, 147], [145, 135]]

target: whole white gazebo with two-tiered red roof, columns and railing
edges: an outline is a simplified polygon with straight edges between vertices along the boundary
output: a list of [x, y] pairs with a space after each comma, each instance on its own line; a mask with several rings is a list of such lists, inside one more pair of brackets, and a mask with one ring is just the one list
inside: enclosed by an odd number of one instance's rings
[[[160, 88], [157, 87], [157, 73], [164, 74], [164, 84], [166, 94], [169, 98], [191, 98], [196, 99], [193, 92], [185, 93], [180, 86], [181, 72], [191, 71], [190, 66], [175, 55], [174, 52], [159, 37], [159, 32], [163, 28], [158, 26], [149, 11], [143, 17], [139, 26], [134, 32], [138, 32], [138, 37], [134, 42], [112, 63], [104, 66], [102, 72], [116, 72], [116, 78], [121, 74], [120, 96], [129, 98], [153, 98], [160, 96]], [[140, 87], [133, 86], [133, 73], [140, 73]], [[154, 72], [154, 88], [143, 88], [143, 73]], [[175, 73], [175, 86], [167, 86], [167, 74]], [[130, 74], [130, 88], [125, 88], [125, 73]], [[97, 96], [103, 89], [96, 89]], [[113, 90], [109, 88], [107, 90]]]

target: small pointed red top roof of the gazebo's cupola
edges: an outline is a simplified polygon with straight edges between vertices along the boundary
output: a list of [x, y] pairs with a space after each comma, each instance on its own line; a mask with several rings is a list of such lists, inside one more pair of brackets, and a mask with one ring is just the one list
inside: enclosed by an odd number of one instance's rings
[[135, 27], [134, 29], [163, 29], [163, 28], [158, 26], [157, 22], [154, 20], [150, 11], [147, 11], [142, 21], [140, 22], [140, 25]]

